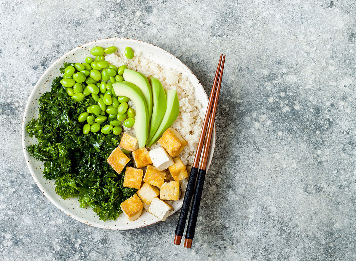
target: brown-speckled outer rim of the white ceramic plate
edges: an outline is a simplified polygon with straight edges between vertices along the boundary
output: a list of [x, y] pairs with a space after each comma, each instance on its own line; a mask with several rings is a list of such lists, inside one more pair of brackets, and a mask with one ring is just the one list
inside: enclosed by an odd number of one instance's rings
[[[194, 73], [192, 71], [190, 71], [190, 69], [182, 62], [180, 61], [177, 57], [175, 57], [174, 55], [172, 55], [171, 53], [169, 53], [168, 51], [156, 46], [156, 45], [153, 45], [153, 44], [150, 44], [148, 42], [144, 42], [144, 41], [140, 41], [140, 40], [136, 40], [136, 39], [129, 39], [129, 38], [123, 38], [123, 37], [117, 37], [117, 38], [104, 38], [104, 39], [99, 39], [99, 40], [95, 40], [95, 41], [91, 41], [91, 42], [87, 42], [86, 44], [83, 44], [83, 45], [80, 45], [78, 47], [75, 47], [74, 49], [70, 50], [69, 52], [65, 53], [64, 55], [62, 55], [60, 58], [58, 58], [54, 63], [52, 63], [51, 66], [48, 67], [48, 69], [42, 74], [42, 76], [39, 78], [39, 80], [37, 81], [35, 87], [32, 89], [31, 91], [31, 94], [28, 98], [28, 101], [27, 101], [27, 104], [26, 104], [26, 107], [25, 107], [25, 112], [23, 114], [23, 118], [22, 118], [22, 130], [21, 130], [21, 137], [22, 137], [22, 149], [23, 149], [23, 154], [24, 154], [24, 157], [25, 157], [25, 160], [26, 160], [26, 164], [27, 164], [27, 167], [28, 169], [30, 170], [30, 173], [32, 175], [32, 178], [35, 180], [35, 183], [36, 185], [38, 186], [38, 188], [40, 188], [40, 190], [42, 191], [42, 193], [46, 196], [46, 198], [51, 201], [51, 203], [53, 205], [55, 205], [58, 209], [60, 209], [61, 211], [63, 211], [65, 214], [67, 214], [68, 216], [70, 216], [71, 218], [74, 218], [75, 220], [78, 220], [84, 224], [87, 224], [87, 225], [90, 225], [90, 226], [94, 226], [94, 227], [98, 227], [98, 228], [103, 228], [103, 229], [111, 229], [111, 230], [127, 230], [127, 229], [135, 229], [135, 228], [139, 228], [139, 227], [144, 227], [144, 226], [149, 226], [149, 225], [152, 225], [152, 224], [156, 224], [157, 222], [159, 222], [160, 220], [156, 220], [156, 221], [153, 221], [153, 222], [149, 222], [149, 223], [146, 223], [146, 224], [142, 224], [140, 226], [135, 226], [135, 227], [110, 227], [110, 226], [107, 226], [107, 225], [103, 225], [103, 224], [95, 224], [95, 222], [91, 222], [91, 223], [94, 223], [94, 224], [89, 224], [89, 222], [87, 220], [83, 220], [80, 216], [77, 216], [77, 215], [70, 215], [69, 213], [69, 210], [67, 209], [62, 209], [61, 206], [59, 206], [59, 203], [57, 203], [56, 199], [53, 199], [51, 197], [51, 195], [49, 195], [48, 191], [46, 191], [46, 189], [43, 187], [43, 185], [40, 183], [40, 181], [37, 179], [37, 175], [43, 175], [42, 172], [34, 172], [32, 171], [32, 168], [31, 168], [31, 163], [30, 163], [30, 160], [29, 158], [32, 156], [27, 152], [27, 149], [26, 149], [26, 139], [28, 139], [28, 134], [26, 132], [26, 118], [27, 118], [27, 113], [29, 111], [29, 107], [30, 107], [30, 103], [35, 99], [35, 90], [37, 88], [40, 88], [40, 82], [43, 80], [43, 78], [45, 78], [47, 76], [47, 74], [49, 73], [49, 71], [52, 70], [52, 67], [54, 65], [57, 65], [57, 63], [59, 63], [60, 60], [62, 60], [63, 58], [67, 57], [69, 54], [71, 53], [75, 53], [77, 50], [79, 50], [79, 48], [81, 47], [85, 47], [87, 45], [91, 45], [93, 43], [98, 43], [100, 41], [103, 41], [103, 40], [128, 40], [128, 41], [133, 41], [133, 42], [137, 42], [137, 43], [141, 43], [141, 44], [145, 44], [145, 45], [151, 45], [152, 47], [155, 47], [155, 48], [158, 48], [158, 50], [160, 50], [161, 52], [165, 53], [166, 55], [168, 56], [171, 56], [172, 59], [176, 60], [176, 62], [179, 62], [182, 64], [182, 66], [185, 68], [185, 70], [187, 70], [187, 72], [190, 72], [192, 73], [193, 75], [193, 80], [195, 82], [192, 82], [190, 80], [190, 82], [192, 83], [192, 85], [194, 86], [194, 88], [199, 88], [201, 89], [201, 91], [203, 91], [203, 93], [205, 94], [205, 99], [206, 101], [208, 101], [208, 96], [206, 95], [206, 92], [203, 88], [203, 86], [201, 85], [200, 81], [198, 80], [198, 78], [194, 75]], [[153, 60], [153, 59], [152, 59]], [[211, 164], [211, 160], [212, 160], [212, 157], [213, 157], [213, 154], [214, 154], [214, 149], [215, 149], [215, 125], [214, 125], [214, 130], [213, 130], [213, 137], [212, 137], [212, 140], [211, 140], [211, 148], [210, 148], [210, 154], [209, 154], [209, 158], [208, 158], [208, 164], [207, 164], [207, 170], [209, 169], [210, 167], [210, 164]], [[173, 211], [171, 211], [171, 213], [169, 214], [169, 216], [171, 216], [172, 214], [176, 213], [181, 207], [182, 207], [182, 204], [183, 204], [183, 197], [184, 197], [184, 194], [181, 196], [180, 200], [181, 203], [180, 203], [180, 206], [176, 209], [174, 209]], [[94, 212], [93, 212], [93, 215]]]

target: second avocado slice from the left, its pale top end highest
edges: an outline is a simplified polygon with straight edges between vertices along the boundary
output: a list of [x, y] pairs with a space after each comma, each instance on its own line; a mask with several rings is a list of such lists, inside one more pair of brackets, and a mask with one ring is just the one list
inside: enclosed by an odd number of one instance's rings
[[141, 89], [143, 96], [146, 99], [147, 109], [148, 109], [148, 121], [150, 121], [152, 116], [152, 89], [145, 75], [140, 72], [136, 72], [130, 69], [125, 69], [122, 75], [126, 82], [131, 82]]

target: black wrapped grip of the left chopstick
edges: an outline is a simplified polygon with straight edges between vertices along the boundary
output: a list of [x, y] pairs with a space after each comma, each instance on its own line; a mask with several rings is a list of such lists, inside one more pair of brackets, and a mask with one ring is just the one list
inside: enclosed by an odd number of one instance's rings
[[187, 185], [187, 189], [185, 190], [182, 209], [180, 210], [180, 215], [176, 228], [177, 236], [183, 236], [185, 222], [187, 222], [190, 201], [192, 201], [192, 197], [194, 194], [195, 180], [197, 179], [197, 174], [198, 174], [198, 169], [193, 167], [190, 170], [188, 185]]

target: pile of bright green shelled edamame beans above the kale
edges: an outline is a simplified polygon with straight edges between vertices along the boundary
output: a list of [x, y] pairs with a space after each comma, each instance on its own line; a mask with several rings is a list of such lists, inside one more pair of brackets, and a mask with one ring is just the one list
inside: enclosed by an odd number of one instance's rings
[[[117, 68], [104, 60], [104, 53], [114, 53], [115, 46], [103, 48], [95, 46], [90, 50], [91, 55], [86, 57], [84, 63], [74, 63], [64, 69], [61, 84], [66, 87], [67, 93], [74, 101], [82, 102], [85, 97], [91, 97], [98, 103], [87, 108], [78, 117], [78, 122], [84, 123], [83, 134], [98, 132], [119, 135], [122, 132], [121, 124], [131, 128], [135, 124], [135, 111], [129, 108], [129, 98], [117, 97], [112, 83], [124, 81], [122, 74], [126, 65]], [[134, 54], [131, 47], [125, 48], [125, 56], [132, 59]], [[122, 123], [123, 121], [123, 123]], [[101, 127], [103, 123], [109, 123]]]

